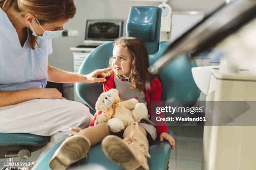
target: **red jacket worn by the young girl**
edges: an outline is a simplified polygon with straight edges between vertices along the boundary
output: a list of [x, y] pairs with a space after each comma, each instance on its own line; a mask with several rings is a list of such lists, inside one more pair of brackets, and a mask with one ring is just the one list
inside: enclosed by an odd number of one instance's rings
[[[107, 92], [112, 88], [115, 88], [114, 74], [110, 75], [109, 79], [103, 83], [103, 92]], [[162, 94], [161, 82], [157, 78], [154, 78], [151, 82], [151, 89], [150, 90], [146, 89], [145, 94], [148, 102], [148, 112], [151, 115], [151, 101], [161, 101], [161, 94]], [[94, 118], [90, 123], [90, 126], [94, 125], [97, 115], [100, 115], [101, 113], [102, 113], [101, 111], [97, 111], [95, 113]], [[159, 116], [164, 117], [164, 113], [161, 113]], [[162, 132], [168, 133], [168, 129], [166, 125], [156, 126], [156, 130], [157, 130], [157, 133], [162, 133]]]

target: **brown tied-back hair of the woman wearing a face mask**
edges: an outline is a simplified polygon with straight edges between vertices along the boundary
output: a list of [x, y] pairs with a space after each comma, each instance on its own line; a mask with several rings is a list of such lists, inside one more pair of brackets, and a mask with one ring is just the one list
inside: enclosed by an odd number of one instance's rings
[[[33, 14], [42, 25], [61, 18], [71, 19], [76, 13], [74, 0], [0, 0], [0, 7], [7, 10], [13, 6], [20, 15]], [[32, 35], [31, 30], [29, 30]], [[37, 37], [29, 36], [31, 48], [35, 49]]]

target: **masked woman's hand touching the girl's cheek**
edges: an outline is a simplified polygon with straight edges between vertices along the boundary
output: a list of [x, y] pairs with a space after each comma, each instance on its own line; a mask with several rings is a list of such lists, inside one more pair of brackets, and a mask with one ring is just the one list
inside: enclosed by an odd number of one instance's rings
[[107, 77], [105, 72], [108, 72], [110, 70], [112, 70], [112, 68], [103, 68], [103, 69], [95, 70], [90, 74], [84, 75], [84, 77], [86, 78], [87, 83], [105, 82], [107, 81], [105, 79]]

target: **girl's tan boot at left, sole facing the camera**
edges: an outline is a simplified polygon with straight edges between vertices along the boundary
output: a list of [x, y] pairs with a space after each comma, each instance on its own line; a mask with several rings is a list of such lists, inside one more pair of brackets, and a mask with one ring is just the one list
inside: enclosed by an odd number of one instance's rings
[[88, 138], [73, 130], [81, 130], [78, 127], [72, 127], [70, 133], [73, 136], [64, 140], [64, 142], [55, 151], [49, 166], [52, 170], [66, 170], [70, 165], [85, 158], [91, 148]]

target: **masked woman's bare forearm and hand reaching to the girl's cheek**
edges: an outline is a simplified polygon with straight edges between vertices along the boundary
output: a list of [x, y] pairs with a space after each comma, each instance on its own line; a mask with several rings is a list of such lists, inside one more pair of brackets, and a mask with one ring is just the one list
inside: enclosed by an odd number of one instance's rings
[[51, 82], [105, 82], [106, 75], [104, 72], [110, 71], [112, 68], [99, 69], [87, 75], [79, 75], [73, 72], [67, 72], [58, 68], [52, 67], [48, 64], [48, 81]]

